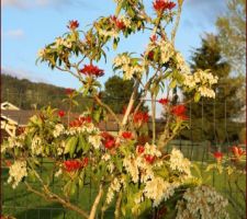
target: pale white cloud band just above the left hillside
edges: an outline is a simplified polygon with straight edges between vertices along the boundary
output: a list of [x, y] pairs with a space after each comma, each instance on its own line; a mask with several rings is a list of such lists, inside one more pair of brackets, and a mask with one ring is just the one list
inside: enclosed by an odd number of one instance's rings
[[1, 73], [16, 77], [18, 79], [27, 79], [33, 82], [44, 82], [49, 83], [46, 79], [38, 76], [35, 72], [29, 71], [26, 69], [16, 69], [12, 67], [1, 67]]

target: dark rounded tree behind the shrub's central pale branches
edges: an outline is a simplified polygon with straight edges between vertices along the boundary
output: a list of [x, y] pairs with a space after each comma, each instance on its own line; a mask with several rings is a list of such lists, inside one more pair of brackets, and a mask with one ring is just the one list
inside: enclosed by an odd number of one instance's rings
[[[123, 80], [119, 76], [113, 76], [104, 83], [104, 102], [117, 114], [122, 113], [124, 106], [128, 104], [132, 95], [134, 80]], [[141, 97], [141, 93], [137, 95]], [[147, 107], [142, 107], [147, 111]]]

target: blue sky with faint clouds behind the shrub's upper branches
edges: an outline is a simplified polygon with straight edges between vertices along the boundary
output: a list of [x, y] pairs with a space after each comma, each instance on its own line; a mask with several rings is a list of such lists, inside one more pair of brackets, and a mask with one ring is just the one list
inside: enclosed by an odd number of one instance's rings
[[[144, 0], [148, 12], [151, 0]], [[64, 34], [69, 20], [78, 20], [87, 27], [100, 15], [114, 13], [113, 0], [2, 0], [1, 71], [32, 81], [43, 81], [65, 88], [79, 88], [70, 76], [52, 71], [45, 64], [35, 65], [37, 50]], [[204, 32], [215, 33], [215, 20], [226, 9], [224, 0], [184, 0], [176, 46], [187, 60], [192, 48], [200, 46]], [[112, 76], [111, 65], [119, 51], [143, 53], [148, 36], [138, 34], [124, 39], [109, 61], [99, 64], [105, 70], [104, 82]]]

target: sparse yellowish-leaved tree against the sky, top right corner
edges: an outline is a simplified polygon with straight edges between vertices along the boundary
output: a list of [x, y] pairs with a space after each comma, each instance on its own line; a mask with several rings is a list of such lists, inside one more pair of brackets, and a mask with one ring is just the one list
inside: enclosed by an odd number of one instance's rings
[[246, 71], [246, 0], [229, 0], [227, 11], [216, 21], [218, 43], [232, 70]]

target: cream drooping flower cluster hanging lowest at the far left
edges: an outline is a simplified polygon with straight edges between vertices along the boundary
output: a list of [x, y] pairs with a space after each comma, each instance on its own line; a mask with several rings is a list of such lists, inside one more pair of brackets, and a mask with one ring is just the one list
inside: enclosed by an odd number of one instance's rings
[[12, 187], [15, 188], [23, 177], [27, 176], [26, 161], [14, 161], [10, 166], [8, 183], [13, 183]]

